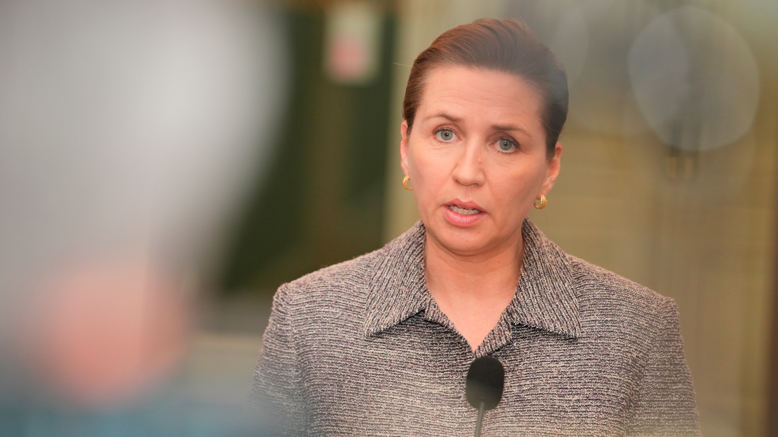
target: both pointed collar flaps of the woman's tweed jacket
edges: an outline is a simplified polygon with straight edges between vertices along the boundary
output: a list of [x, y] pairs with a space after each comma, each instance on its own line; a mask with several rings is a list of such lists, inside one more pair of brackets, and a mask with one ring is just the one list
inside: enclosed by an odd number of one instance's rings
[[[529, 218], [524, 220], [521, 233], [524, 262], [506, 319], [512, 324], [580, 337], [580, 311], [566, 253]], [[434, 305], [424, 276], [425, 239], [424, 225], [416, 222], [377, 257], [367, 298], [366, 336], [394, 327]]]

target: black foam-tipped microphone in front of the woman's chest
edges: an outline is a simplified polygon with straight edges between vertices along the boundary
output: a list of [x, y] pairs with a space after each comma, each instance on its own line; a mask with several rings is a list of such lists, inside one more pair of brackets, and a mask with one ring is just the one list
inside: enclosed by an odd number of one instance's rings
[[468, 404], [478, 410], [475, 422], [475, 437], [481, 435], [484, 411], [492, 410], [503, 397], [505, 369], [499, 359], [489, 355], [476, 358], [468, 370], [468, 380], [464, 386], [464, 396]]

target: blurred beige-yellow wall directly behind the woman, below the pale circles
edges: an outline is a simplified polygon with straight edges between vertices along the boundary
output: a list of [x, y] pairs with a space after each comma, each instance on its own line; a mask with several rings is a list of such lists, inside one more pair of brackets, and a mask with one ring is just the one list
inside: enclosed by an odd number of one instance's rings
[[[401, 2], [396, 61], [409, 65], [441, 31], [501, 2]], [[710, 9], [751, 46], [761, 96], [752, 130], [693, 156], [693, 176], [672, 180], [668, 149], [643, 121], [629, 89], [598, 83], [596, 68], [571, 87], [562, 174], [548, 208], [531, 218], [568, 253], [676, 299], [703, 432], [764, 435], [766, 351], [772, 299], [778, 149], [776, 9], [753, 0]], [[408, 68], [397, 66], [385, 238], [416, 219], [399, 170], [400, 102]], [[594, 127], [591, 117], [599, 117]]]

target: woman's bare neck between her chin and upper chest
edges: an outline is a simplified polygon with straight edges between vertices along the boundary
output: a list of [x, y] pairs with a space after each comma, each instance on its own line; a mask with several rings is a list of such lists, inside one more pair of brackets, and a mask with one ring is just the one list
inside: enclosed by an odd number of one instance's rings
[[427, 232], [425, 274], [429, 291], [444, 306], [513, 299], [524, 257], [521, 229], [478, 253], [457, 253]]

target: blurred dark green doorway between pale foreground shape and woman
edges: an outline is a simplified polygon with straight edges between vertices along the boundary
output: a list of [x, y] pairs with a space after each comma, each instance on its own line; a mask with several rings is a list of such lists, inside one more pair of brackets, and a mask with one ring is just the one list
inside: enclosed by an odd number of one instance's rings
[[333, 2], [286, 2], [286, 116], [268, 177], [237, 226], [220, 288], [275, 292], [283, 282], [381, 246], [393, 53], [393, 2], [375, 2], [377, 68], [342, 84], [324, 68]]

